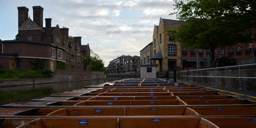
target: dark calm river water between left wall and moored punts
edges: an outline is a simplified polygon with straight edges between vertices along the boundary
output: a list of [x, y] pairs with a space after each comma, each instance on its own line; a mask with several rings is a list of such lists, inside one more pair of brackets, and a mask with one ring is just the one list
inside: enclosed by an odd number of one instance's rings
[[[82, 89], [84, 86], [96, 85], [114, 80], [126, 79], [124, 77], [106, 77], [99, 80], [58, 82], [46, 84], [33, 84], [28, 86], [0, 87], [0, 106], [13, 102], [29, 101], [38, 97], [49, 97], [56, 93]], [[1, 108], [1, 107], [0, 107]]]

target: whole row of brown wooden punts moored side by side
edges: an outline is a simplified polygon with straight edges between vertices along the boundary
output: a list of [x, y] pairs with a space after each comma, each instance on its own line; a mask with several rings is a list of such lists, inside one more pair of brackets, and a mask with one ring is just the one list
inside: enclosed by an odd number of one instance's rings
[[137, 87], [86, 87], [6, 104], [0, 109], [0, 127], [21, 120], [30, 122], [19, 127], [256, 127], [253, 99], [180, 83], [145, 87], [142, 82], [153, 80], [142, 80]]

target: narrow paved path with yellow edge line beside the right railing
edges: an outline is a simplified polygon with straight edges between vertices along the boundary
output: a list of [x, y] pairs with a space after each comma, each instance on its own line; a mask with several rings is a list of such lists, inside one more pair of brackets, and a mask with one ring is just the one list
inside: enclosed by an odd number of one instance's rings
[[198, 85], [198, 86], [208, 87], [208, 88], [217, 89], [217, 90], [223, 90], [223, 91], [232, 92], [232, 93], [238, 93], [238, 94], [247, 95], [247, 96], [251, 96], [253, 98], [256, 98], [256, 92], [255, 91], [247, 91], [247, 90], [239, 90], [239, 89], [233, 89], [233, 88], [219, 87], [219, 86], [213, 86], [213, 85], [210, 85], [210, 84], [189, 82], [189, 81], [183, 81], [183, 80], [177, 80], [177, 81], [185, 82], [185, 83], [193, 83], [194, 85]]

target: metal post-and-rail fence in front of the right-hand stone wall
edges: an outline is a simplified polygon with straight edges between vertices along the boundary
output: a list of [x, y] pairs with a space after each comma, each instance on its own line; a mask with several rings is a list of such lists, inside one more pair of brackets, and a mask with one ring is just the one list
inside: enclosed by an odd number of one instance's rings
[[[241, 81], [246, 84], [253, 84], [247, 86], [253, 86], [256, 89], [256, 63], [250, 65], [240, 65], [240, 66], [229, 66], [229, 67], [219, 67], [219, 68], [208, 68], [208, 69], [198, 69], [198, 70], [188, 70], [188, 71], [177, 71], [176, 77], [178, 80], [185, 80], [191, 82], [209, 82], [217, 86], [225, 82], [225, 87], [228, 87], [228, 83], [237, 81], [239, 79], [239, 89], [241, 90]], [[174, 72], [169, 72], [169, 79], [174, 78]], [[229, 81], [228, 81], [229, 80]], [[233, 80], [233, 81], [232, 81]], [[207, 82], [206, 82], [207, 81]], [[252, 81], [252, 82], [248, 82]], [[244, 86], [244, 85], [243, 85]]]

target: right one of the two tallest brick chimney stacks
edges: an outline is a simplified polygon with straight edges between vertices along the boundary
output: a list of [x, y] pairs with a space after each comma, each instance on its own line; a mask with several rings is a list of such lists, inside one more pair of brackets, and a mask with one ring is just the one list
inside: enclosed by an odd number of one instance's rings
[[41, 6], [33, 6], [33, 20], [39, 26], [42, 27], [42, 11], [44, 8]]

